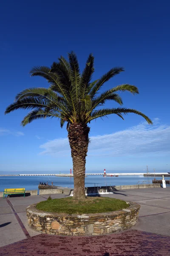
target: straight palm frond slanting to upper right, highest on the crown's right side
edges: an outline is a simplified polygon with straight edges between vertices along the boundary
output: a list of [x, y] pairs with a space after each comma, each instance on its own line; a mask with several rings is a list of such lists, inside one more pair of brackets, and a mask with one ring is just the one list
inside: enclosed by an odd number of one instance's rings
[[108, 71], [104, 76], [102, 76], [99, 81], [94, 85], [94, 87], [91, 89], [90, 95], [91, 99], [94, 98], [95, 94], [98, 92], [98, 90], [102, 87], [102, 85], [107, 82], [109, 79], [111, 79], [113, 76], [116, 76], [120, 72], [123, 72], [123, 67], [114, 67], [111, 70]]

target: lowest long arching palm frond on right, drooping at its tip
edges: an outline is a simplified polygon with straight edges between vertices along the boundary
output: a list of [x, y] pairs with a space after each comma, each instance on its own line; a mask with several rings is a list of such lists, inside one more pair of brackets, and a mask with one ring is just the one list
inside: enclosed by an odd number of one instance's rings
[[96, 110], [93, 113], [91, 113], [91, 116], [89, 116], [87, 122], [93, 119], [96, 119], [98, 117], [107, 116], [110, 114], [117, 114], [120, 116], [122, 114], [127, 115], [127, 113], [135, 113], [139, 116], [142, 116], [148, 122], [148, 124], [153, 124], [153, 122], [150, 120], [148, 116], [144, 115], [140, 111], [137, 111], [136, 109], [131, 109], [131, 108], [105, 108], [101, 110]]

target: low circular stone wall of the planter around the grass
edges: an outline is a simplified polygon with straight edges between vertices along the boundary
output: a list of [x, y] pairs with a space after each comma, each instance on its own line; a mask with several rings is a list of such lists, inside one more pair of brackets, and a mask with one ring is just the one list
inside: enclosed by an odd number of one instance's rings
[[101, 235], [133, 227], [139, 214], [140, 205], [128, 203], [130, 207], [114, 212], [66, 214], [43, 212], [36, 204], [26, 208], [28, 225], [42, 233], [64, 236]]

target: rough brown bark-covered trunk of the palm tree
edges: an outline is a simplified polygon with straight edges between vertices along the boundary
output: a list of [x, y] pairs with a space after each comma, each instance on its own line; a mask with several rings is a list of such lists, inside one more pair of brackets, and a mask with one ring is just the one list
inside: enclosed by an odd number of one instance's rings
[[85, 198], [85, 158], [88, 151], [90, 128], [83, 124], [68, 127], [68, 140], [71, 147], [74, 174], [74, 199]]

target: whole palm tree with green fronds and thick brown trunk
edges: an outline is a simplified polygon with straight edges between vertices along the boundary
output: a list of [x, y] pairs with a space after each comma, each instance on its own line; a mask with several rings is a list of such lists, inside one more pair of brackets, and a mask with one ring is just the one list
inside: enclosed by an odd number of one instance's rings
[[80, 73], [77, 56], [68, 53], [68, 61], [58, 58], [51, 67], [34, 67], [31, 76], [42, 76], [50, 84], [49, 88], [29, 88], [17, 94], [14, 103], [6, 108], [5, 114], [16, 109], [31, 109], [23, 121], [25, 126], [35, 119], [46, 117], [60, 118], [61, 128], [67, 122], [68, 140], [71, 147], [71, 157], [74, 171], [74, 198], [85, 198], [85, 162], [88, 152], [89, 131], [88, 123], [92, 120], [116, 114], [123, 119], [127, 113], [143, 116], [149, 124], [152, 121], [143, 113], [129, 108], [99, 108], [107, 100], [122, 105], [118, 91], [129, 91], [138, 94], [138, 88], [130, 84], [121, 84], [99, 94], [102, 86], [124, 71], [123, 67], [114, 67], [100, 79], [91, 82], [94, 73], [94, 57], [88, 56], [85, 68]]

